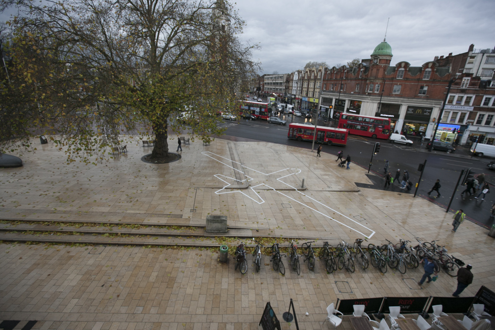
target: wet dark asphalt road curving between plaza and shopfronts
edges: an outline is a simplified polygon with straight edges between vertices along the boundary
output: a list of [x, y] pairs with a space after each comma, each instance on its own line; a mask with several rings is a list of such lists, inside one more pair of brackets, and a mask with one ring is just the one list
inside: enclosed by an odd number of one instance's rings
[[[288, 123], [291, 122], [291, 116], [285, 116], [283, 118]], [[307, 119], [294, 117], [294, 122], [305, 122]], [[289, 125], [281, 126], [277, 124], [269, 124], [266, 121], [241, 121], [229, 122], [223, 121], [222, 126], [227, 127], [226, 135], [238, 138], [252, 139], [257, 141], [267, 141], [272, 143], [286, 144], [291, 146], [297, 146], [301, 148], [311, 149], [311, 142], [290, 140], [287, 138]], [[420, 163], [424, 163], [426, 160], [426, 167], [423, 172], [423, 177], [418, 185], [418, 191], [416, 198], [427, 198], [431, 202], [441, 205], [446, 208], [450, 198], [452, 197], [454, 188], [459, 178], [462, 169], [471, 168], [475, 173], [485, 173], [489, 182], [495, 182], [495, 176], [486, 167], [486, 163], [490, 160], [488, 158], [473, 157], [470, 158], [469, 150], [467, 148], [459, 147], [454, 153], [448, 154], [443, 151], [428, 152], [424, 146], [414, 145], [405, 146], [396, 143], [390, 143], [389, 141], [373, 140], [371, 138], [363, 138], [358, 136], [349, 135], [347, 139], [347, 146], [329, 146], [324, 145], [322, 153], [332, 154], [336, 157], [339, 150], [344, 151], [344, 157], [349, 154], [352, 159], [353, 165], [359, 165], [365, 169], [368, 169], [371, 153], [375, 142], [381, 142], [380, 152], [373, 157], [373, 165], [370, 173], [377, 174], [368, 176], [374, 183], [373, 185], [362, 185], [363, 188], [371, 189], [384, 189], [383, 166], [385, 160], [389, 160], [389, 171], [394, 175], [397, 169], [400, 169], [401, 173], [407, 169], [413, 185], [419, 180], [420, 172], [418, 166]], [[315, 144], [314, 149], [317, 148]], [[316, 154], [316, 152], [315, 152]], [[337, 164], [335, 165], [337, 166]], [[344, 170], [344, 169], [343, 169]], [[402, 175], [400, 176], [402, 178]], [[432, 197], [429, 197], [427, 192], [433, 187], [433, 184], [437, 179], [440, 179], [442, 188], [440, 189], [441, 196], [436, 198], [434, 191]], [[487, 194], [486, 200], [475, 199], [474, 196], [461, 196], [460, 192], [465, 187], [460, 185], [457, 187], [456, 192], [452, 198], [450, 210], [457, 210], [462, 208], [466, 213], [469, 220], [480, 226], [491, 228], [495, 224], [494, 219], [490, 218], [490, 208], [495, 202], [495, 188], [493, 192]], [[389, 190], [397, 191], [398, 193], [411, 193], [414, 194], [415, 188], [410, 192], [404, 189], [399, 189], [397, 185], [394, 185]], [[433, 219], [432, 219], [433, 220]]]

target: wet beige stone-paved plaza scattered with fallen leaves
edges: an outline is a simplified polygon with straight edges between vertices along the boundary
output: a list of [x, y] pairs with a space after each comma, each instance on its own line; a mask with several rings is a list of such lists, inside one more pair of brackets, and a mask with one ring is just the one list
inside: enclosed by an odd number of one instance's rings
[[[177, 137], [169, 141], [175, 151]], [[136, 140], [127, 154], [97, 166], [66, 165], [51, 144], [17, 155], [23, 167], [0, 169], [1, 219], [188, 226], [225, 215], [233, 234], [296, 237], [299, 245], [435, 239], [473, 265], [474, 281], [461, 296], [473, 296], [481, 285], [495, 289], [494, 238], [486, 229], [465, 221], [451, 233], [453, 213], [434, 203], [405, 191], [357, 188], [371, 183], [367, 169], [338, 167], [337, 147], [316, 157], [286, 145], [217, 139], [183, 144], [176, 162], [145, 163], [141, 157], [151, 148]], [[420, 268], [381, 274], [356, 264], [353, 274], [327, 274], [320, 260], [314, 272], [301, 264], [297, 276], [285, 259], [282, 276], [266, 255], [259, 273], [248, 255], [241, 275], [232, 257], [218, 261], [218, 247], [208, 247], [214, 239], [205, 239], [205, 247], [131, 247], [114, 239], [123, 245], [0, 244], [0, 322], [20, 321], [13, 329], [258, 329], [269, 301], [282, 329], [296, 329], [282, 320], [292, 298], [299, 329], [327, 329], [326, 307], [339, 298], [447, 297], [456, 285], [441, 272], [420, 288]], [[352, 329], [348, 317], [343, 328]]]

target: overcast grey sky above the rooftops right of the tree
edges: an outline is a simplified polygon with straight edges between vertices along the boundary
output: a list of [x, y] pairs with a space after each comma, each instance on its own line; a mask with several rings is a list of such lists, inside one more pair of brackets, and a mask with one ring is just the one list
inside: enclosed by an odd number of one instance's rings
[[242, 38], [259, 43], [261, 74], [290, 73], [308, 61], [330, 67], [370, 58], [387, 43], [392, 64], [420, 66], [436, 55], [495, 47], [495, 0], [238, 0]]

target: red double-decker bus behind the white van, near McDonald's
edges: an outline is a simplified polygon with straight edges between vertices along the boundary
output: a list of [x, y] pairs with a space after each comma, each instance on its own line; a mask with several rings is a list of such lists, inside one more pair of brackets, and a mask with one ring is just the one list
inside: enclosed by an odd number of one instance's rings
[[339, 118], [339, 128], [349, 130], [349, 134], [388, 140], [390, 119], [343, 113]]

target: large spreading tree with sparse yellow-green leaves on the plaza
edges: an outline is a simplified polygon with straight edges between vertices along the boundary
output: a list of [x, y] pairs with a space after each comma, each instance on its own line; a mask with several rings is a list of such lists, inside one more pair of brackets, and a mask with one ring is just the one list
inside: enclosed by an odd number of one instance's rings
[[239, 108], [241, 82], [257, 71], [256, 46], [240, 42], [245, 23], [224, 0], [18, 3], [10, 76], [0, 76], [3, 150], [48, 132], [68, 161], [89, 163], [131, 133], [155, 139], [150, 160], [164, 161], [169, 129], [221, 134], [215, 114]]

